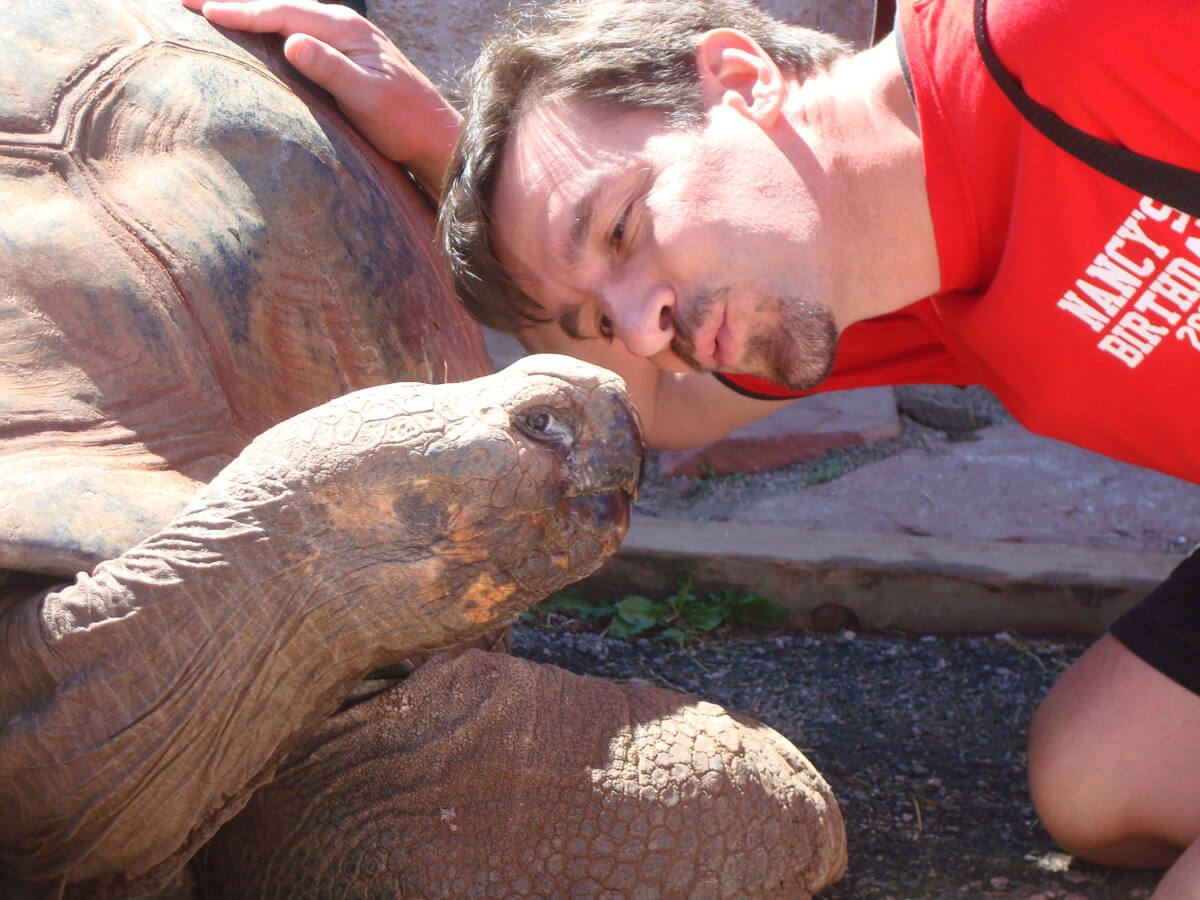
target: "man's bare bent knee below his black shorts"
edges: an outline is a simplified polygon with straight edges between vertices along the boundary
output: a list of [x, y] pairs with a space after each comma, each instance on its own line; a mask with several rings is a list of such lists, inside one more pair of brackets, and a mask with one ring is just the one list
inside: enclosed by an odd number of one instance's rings
[[[1200, 695], [1105, 635], [1034, 714], [1030, 791], [1064, 850], [1108, 865], [1171, 865], [1200, 838]], [[1200, 896], [1200, 850], [1180, 858], [1169, 884], [1164, 900]]]

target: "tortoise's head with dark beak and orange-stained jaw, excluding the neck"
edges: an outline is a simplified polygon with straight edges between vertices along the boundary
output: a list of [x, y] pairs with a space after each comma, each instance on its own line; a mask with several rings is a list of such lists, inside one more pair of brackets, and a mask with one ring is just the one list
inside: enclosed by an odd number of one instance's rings
[[430, 455], [434, 472], [450, 476], [448, 498], [454, 492], [452, 514], [434, 514], [444, 552], [485, 551], [523, 590], [545, 595], [616, 551], [644, 458], [617, 374], [535, 355], [443, 385], [437, 397], [446, 444]]

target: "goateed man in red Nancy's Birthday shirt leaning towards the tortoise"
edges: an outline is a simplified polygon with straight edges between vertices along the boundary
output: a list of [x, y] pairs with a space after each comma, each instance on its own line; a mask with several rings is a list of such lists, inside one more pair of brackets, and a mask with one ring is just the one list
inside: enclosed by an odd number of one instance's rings
[[[439, 180], [412, 110], [436, 108], [439, 138], [454, 115], [366, 23], [287, 0], [204, 12], [290, 35], [385, 154]], [[992, 0], [986, 32], [1072, 125], [1200, 170], [1190, 12]], [[439, 229], [476, 316], [622, 372], [653, 445], [709, 440], [762, 396], [978, 382], [1034, 431], [1200, 481], [1200, 226], [1028, 125], [967, 0], [901, 4], [856, 55], [736, 0], [545, 22], [473, 70]], [[1169, 866], [1159, 900], [1200, 896], [1198, 600], [1193, 554], [1031, 726], [1045, 827], [1100, 863]]]

